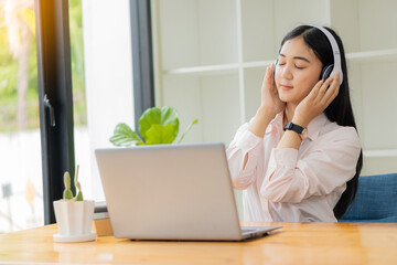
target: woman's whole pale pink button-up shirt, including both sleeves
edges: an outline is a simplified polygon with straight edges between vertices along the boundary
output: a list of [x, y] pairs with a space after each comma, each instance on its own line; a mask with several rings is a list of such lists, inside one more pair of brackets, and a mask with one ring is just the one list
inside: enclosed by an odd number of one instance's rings
[[322, 113], [309, 124], [299, 150], [277, 148], [282, 117], [271, 120], [264, 138], [248, 130], [249, 123], [243, 125], [226, 150], [233, 184], [244, 190], [244, 220], [336, 222], [333, 209], [361, 152], [356, 129], [331, 123]]

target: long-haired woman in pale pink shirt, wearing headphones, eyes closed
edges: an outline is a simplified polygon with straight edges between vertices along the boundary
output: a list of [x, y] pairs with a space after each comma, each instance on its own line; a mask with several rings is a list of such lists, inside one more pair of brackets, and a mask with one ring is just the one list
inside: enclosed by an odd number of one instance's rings
[[[341, 68], [323, 77], [329, 70]], [[325, 80], [323, 80], [325, 78]], [[245, 221], [335, 222], [353, 202], [363, 163], [341, 39], [301, 25], [267, 68], [261, 104], [227, 149]]]

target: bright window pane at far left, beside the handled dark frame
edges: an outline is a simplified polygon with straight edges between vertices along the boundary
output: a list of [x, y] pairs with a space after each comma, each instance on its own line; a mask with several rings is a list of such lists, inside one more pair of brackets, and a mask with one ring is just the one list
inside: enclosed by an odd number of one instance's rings
[[0, 233], [43, 225], [33, 0], [0, 1]]

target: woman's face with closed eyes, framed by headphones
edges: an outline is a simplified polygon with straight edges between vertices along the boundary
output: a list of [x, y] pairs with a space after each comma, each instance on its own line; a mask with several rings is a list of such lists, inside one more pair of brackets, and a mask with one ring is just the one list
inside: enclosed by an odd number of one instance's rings
[[285, 42], [276, 66], [276, 86], [282, 102], [298, 105], [321, 74], [322, 63], [302, 36]]

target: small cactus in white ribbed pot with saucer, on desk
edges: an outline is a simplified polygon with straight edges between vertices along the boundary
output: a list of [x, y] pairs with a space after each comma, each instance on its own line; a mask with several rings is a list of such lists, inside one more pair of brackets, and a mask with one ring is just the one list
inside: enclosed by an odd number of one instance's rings
[[55, 242], [83, 242], [96, 239], [96, 232], [92, 232], [95, 202], [84, 200], [82, 186], [77, 178], [78, 166], [74, 179], [78, 189], [77, 195], [73, 195], [71, 174], [66, 171], [64, 173], [63, 199], [54, 201], [55, 219], [58, 226], [58, 233], [53, 235]]

